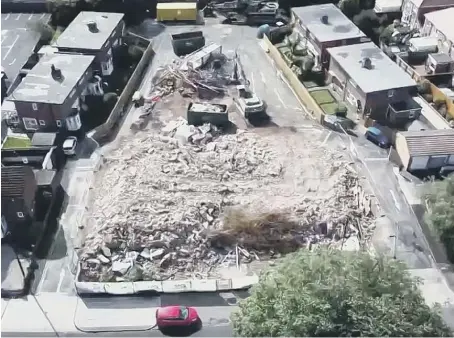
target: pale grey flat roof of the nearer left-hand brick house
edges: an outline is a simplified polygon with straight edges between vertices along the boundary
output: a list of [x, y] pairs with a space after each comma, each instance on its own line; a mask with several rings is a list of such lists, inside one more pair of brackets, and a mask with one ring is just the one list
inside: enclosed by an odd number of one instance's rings
[[[62, 104], [94, 58], [91, 55], [75, 54], [44, 55], [9, 98], [12, 101]], [[52, 77], [52, 65], [61, 70], [62, 81]]]

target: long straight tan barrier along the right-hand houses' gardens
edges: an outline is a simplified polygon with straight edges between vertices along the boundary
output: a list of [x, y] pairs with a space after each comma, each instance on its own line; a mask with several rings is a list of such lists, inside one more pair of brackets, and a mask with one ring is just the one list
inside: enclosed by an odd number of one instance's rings
[[298, 79], [298, 76], [290, 69], [284, 59], [281, 57], [281, 53], [271, 43], [268, 37], [265, 35], [262, 39], [263, 47], [270, 55], [271, 59], [275, 62], [279, 70], [285, 76], [286, 80], [294, 90], [296, 96], [299, 98], [302, 105], [304, 105], [307, 111], [320, 123], [323, 123], [325, 113], [319, 107], [314, 98], [310, 95], [306, 87]]

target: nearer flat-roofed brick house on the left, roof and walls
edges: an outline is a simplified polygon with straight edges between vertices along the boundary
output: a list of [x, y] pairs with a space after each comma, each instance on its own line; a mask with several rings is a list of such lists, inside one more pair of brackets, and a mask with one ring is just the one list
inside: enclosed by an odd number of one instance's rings
[[91, 55], [43, 55], [7, 100], [28, 132], [81, 128], [79, 98], [91, 85]]

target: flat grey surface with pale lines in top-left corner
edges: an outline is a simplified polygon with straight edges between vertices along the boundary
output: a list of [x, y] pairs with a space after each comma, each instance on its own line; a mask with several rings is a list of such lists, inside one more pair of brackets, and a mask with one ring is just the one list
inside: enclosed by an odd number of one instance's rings
[[2, 67], [10, 81], [27, 63], [39, 41], [39, 34], [31, 29], [38, 21], [49, 22], [50, 14], [2, 14]]

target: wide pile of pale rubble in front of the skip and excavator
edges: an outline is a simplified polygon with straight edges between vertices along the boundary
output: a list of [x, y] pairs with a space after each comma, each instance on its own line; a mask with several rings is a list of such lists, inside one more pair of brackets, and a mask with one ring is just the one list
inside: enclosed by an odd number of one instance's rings
[[[183, 139], [181, 129], [193, 134]], [[220, 135], [183, 120], [150, 133], [125, 139], [105, 158], [86, 222], [82, 280], [216, 277], [226, 266], [364, 239], [372, 230], [356, 172], [317, 137]], [[194, 137], [209, 133], [209, 140]]]

